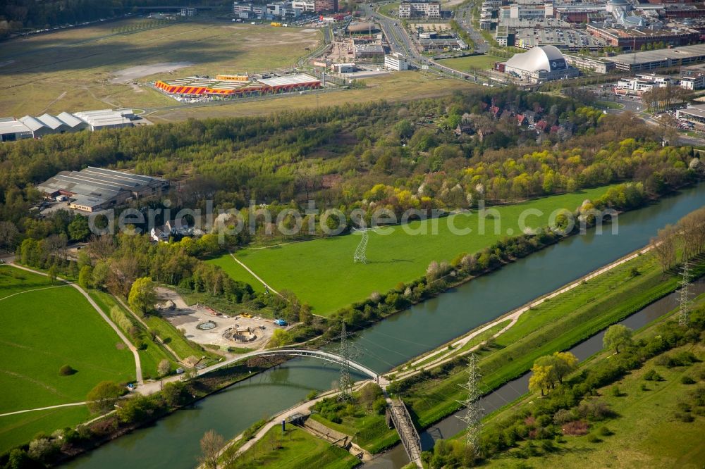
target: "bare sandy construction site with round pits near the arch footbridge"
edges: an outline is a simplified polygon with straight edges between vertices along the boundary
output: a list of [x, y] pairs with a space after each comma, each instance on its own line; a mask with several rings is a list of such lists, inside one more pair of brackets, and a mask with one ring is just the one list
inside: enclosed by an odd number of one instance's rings
[[[271, 319], [245, 318], [243, 316], [228, 316], [219, 311], [215, 311], [207, 306], [195, 304], [189, 306], [183, 301], [181, 296], [172, 289], [157, 288], [159, 302], [164, 304], [171, 300], [176, 305], [171, 310], [160, 311], [162, 317], [168, 320], [177, 329], [185, 331], [185, 337], [198, 344], [212, 344], [221, 346], [222, 349], [228, 347], [247, 347], [249, 349], [262, 349], [269, 342], [274, 329], [279, 326], [274, 325]], [[215, 327], [209, 330], [200, 330], [196, 326], [202, 323], [212, 322]], [[262, 329], [264, 327], [264, 329]], [[226, 339], [226, 332], [233, 329], [250, 328], [257, 336], [252, 342], [235, 342]]]

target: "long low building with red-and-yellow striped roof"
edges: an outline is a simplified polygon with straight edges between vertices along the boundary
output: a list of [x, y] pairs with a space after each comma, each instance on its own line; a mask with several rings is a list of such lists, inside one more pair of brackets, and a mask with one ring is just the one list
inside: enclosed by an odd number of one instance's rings
[[159, 80], [154, 87], [173, 97], [227, 97], [258, 96], [316, 89], [321, 81], [298, 73], [278, 77], [254, 78], [247, 75], [217, 75], [215, 78], [188, 77], [178, 80]]

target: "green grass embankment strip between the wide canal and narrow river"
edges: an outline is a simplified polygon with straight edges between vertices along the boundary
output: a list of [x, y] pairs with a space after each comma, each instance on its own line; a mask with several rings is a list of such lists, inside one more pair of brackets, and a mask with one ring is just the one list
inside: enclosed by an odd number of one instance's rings
[[[631, 276], [632, 268], [640, 275]], [[653, 254], [639, 256], [524, 313], [519, 322], [479, 354], [483, 389], [489, 391], [531, 368], [539, 356], [569, 349], [611, 323], [673, 291], [677, 279], [662, 276]], [[462, 373], [412, 385], [403, 394], [427, 426], [458, 408]]]

